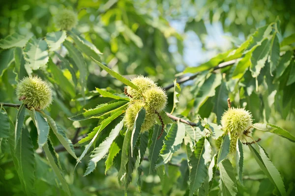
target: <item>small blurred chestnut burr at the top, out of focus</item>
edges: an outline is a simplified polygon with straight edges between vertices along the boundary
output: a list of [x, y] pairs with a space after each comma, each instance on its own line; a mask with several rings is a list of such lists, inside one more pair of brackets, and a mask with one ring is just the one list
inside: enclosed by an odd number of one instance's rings
[[77, 14], [72, 10], [64, 9], [56, 16], [56, 25], [61, 30], [71, 30], [77, 23]]

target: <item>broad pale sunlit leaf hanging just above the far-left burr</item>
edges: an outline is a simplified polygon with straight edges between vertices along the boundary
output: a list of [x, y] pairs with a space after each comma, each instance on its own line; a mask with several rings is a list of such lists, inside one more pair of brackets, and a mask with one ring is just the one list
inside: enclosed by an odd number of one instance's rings
[[24, 48], [24, 58], [27, 61], [26, 66], [32, 70], [38, 70], [46, 66], [49, 56], [47, 51], [47, 43], [45, 40], [36, 37], [29, 39]]

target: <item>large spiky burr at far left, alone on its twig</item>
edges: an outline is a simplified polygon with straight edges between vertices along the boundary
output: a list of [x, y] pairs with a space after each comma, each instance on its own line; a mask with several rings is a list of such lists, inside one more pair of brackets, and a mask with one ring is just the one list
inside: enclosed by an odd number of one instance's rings
[[52, 90], [47, 82], [37, 76], [25, 77], [16, 87], [19, 100], [29, 108], [43, 110], [52, 102]]

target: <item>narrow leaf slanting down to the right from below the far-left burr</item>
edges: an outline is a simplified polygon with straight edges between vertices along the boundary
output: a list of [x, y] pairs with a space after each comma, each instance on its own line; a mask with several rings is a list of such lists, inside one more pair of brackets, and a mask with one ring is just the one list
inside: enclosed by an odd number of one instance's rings
[[70, 153], [70, 155], [72, 155], [75, 159], [78, 159], [78, 157], [75, 154], [72, 141], [66, 137], [63, 129], [60, 128], [57, 125], [57, 123], [50, 116], [46, 115], [44, 112], [40, 112], [40, 114], [47, 120], [52, 131], [59, 139], [60, 144], [68, 151], [68, 153]]

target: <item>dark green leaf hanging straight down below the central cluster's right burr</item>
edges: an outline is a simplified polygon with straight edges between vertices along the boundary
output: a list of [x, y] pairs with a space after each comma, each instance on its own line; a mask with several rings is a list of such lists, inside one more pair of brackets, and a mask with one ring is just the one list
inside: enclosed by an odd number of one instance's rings
[[149, 160], [149, 173], [152, 173], [153, 170], [156, 167], [156, 162], [158, 160], [159, 154], [160, 154], [160, 150], [163, 147], [163, 141], [164, 141], [164, 137], [166, 136], [166, 132], [163, 132], [162, 137], [160, 137], [159, 139], [158, 136], [161, 134], [162, 131], [162, 126], [155, 124], [154, 125], [154, 130], [152, 133], [152, 137], [151, 137], [151, 145], [148, 149], [149, 155], [148, 155], [148, 160]]

